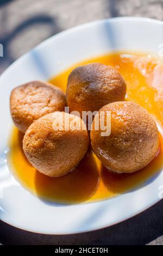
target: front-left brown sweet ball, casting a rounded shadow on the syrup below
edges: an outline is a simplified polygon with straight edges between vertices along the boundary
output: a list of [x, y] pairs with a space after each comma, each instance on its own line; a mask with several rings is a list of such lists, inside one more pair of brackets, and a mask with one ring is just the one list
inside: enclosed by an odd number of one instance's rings
[[84, 121], [65, 112], [37, 119], [23, 138], [23, 150], [29, 162], [40, 173], [52, 177], [70, 172], [83, 159], [88, 147]]

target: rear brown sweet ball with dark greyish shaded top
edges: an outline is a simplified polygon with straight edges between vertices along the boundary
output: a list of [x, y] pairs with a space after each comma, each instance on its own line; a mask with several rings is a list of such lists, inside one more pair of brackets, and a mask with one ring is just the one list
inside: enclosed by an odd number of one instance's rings
[[70, 112], [98, 111], [110, 102], [124, 100], [125, 95], [126, 83], [112, 66], [91, 63], [74, 69], [68, 77]]

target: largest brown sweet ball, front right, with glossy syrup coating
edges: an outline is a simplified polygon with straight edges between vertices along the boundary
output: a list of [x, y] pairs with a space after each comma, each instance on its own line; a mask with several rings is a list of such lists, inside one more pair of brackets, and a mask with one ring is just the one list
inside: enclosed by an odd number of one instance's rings
[[111, 114], [110, 136], [101, 136], [101, 130], [95, 130], [95, 120], [92, 123], [92, 149], [104, 166], [118, 173], [133, 173], [153, 160], [159, 149], [159, 136], [146, 109], [122, 101], [99, 111]]

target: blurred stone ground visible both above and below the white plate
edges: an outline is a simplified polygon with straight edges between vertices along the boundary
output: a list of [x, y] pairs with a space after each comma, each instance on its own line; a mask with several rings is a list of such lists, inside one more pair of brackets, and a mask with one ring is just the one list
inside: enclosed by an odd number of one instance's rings
[[[116, 16], [163, 20], [157, 0], [1, 0], [0, 74], [39, 42], [67, 28]], [[0, 222], [3, 245], [163, 245], [163, 200], [113, 227], [77, 235], [41, 235]]]

